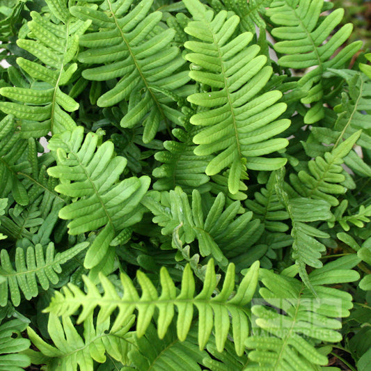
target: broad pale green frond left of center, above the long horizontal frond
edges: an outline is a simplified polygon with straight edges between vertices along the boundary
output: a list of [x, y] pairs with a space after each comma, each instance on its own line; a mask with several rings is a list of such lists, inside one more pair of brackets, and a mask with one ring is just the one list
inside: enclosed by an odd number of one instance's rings
[[47, 171], [61, 179], [56, 191], [77, 198], [59, 212], [61, 219], [71, 220], [70, 235], [103, 227], [86, 253], [86, 268], [95, 267], [112, 240], [141, 220], [139, 202], [150, 185], [147, 176], [119, 181], [127, 160], [114, 155], [112, 142], [101, 141], [99, 133], [90, 132], [84, 138], [84, 128], [77, 127], [73, 132], [54, 135], [49, 142], [58, 165]]

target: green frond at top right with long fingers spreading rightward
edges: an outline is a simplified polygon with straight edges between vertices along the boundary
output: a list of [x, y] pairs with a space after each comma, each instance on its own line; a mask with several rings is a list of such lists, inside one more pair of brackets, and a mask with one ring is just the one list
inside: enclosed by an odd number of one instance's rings
[[308, 124], [324, 117], [322, 97], [327, 90], [325, 85], [331, 86], [331, 81], [323, 81], [322, 74], [328, 68], [342, 68], [362, 45], [361, 41], [352, 42], [331, 58], [349, 38], [353, 26], [345, 24], [327, 40], [340, 24], [344, 10], [320, 16], [323, 8], [323, 0], [274, 0], [266, 12], [278, 25], [271, 34], [283, 40], [274, 44], [276, 52], [283, 54], [278, 64], [297, 69], [316, 67], [299, 80], [299, 86], [309, 89], [306, 97], [301, 98], [301, 103], [312, 105], [304, 117]]

